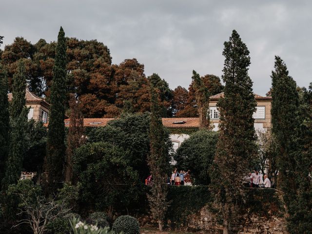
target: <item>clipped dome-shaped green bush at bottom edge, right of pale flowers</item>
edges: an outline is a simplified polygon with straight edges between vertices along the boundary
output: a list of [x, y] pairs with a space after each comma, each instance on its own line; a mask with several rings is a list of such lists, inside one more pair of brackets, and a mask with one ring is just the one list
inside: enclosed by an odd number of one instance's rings
[[124, 234], [139, 234], [140, 226], [135, 217], [130, 215], [121, 215], [115, 220], [113, 230], [115, 233], [123, 232]]

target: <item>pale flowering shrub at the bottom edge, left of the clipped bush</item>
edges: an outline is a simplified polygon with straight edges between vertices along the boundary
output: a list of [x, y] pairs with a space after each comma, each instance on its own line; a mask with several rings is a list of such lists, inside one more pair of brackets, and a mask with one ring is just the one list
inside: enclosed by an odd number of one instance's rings
[[71, 231], [73, 234], [114, 234], [113, 231], [109, 231], [109, 227], [98, 228], [93, 224], [89, 225], [86, 222], [81, 222], [78, 218], [71, 221]]

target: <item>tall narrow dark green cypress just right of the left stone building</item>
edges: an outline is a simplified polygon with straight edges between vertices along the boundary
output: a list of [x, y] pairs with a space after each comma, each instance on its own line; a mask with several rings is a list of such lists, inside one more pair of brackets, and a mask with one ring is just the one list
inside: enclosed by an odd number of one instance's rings
[[66, 40], [63, 28], [60, 27], [56, 48], [53, 80], [50, 95], [50, 118], [47, 139], [46, 171], [47, 182], [51, 189], [55, 182], [63, 179], [63, 163], [65, 159], [65, 99], [66, 99]]

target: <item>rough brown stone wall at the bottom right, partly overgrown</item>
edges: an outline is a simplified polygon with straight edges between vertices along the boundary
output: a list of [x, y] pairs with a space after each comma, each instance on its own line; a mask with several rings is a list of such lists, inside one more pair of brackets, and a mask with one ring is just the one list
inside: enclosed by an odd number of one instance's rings
[[[204, 234], [222, 233], [222, 225], [217, 223], [215, 216], [204, 207], [198, 214], [188, 217], [188, 229]], [[283, 217], [259, 217], [244, 215], [235, 229], [238, 234], [287, 234]]]

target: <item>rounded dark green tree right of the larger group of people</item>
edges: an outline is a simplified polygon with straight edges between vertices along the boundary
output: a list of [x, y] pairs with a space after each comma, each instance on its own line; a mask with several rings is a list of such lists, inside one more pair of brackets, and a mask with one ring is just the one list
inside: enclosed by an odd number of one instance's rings
[[210, 166], [215, 157], [218, 133], [206, 129], [193, 133], [177, 149], [177, 168], [191, 170], [193, 184], [210, 184]]

